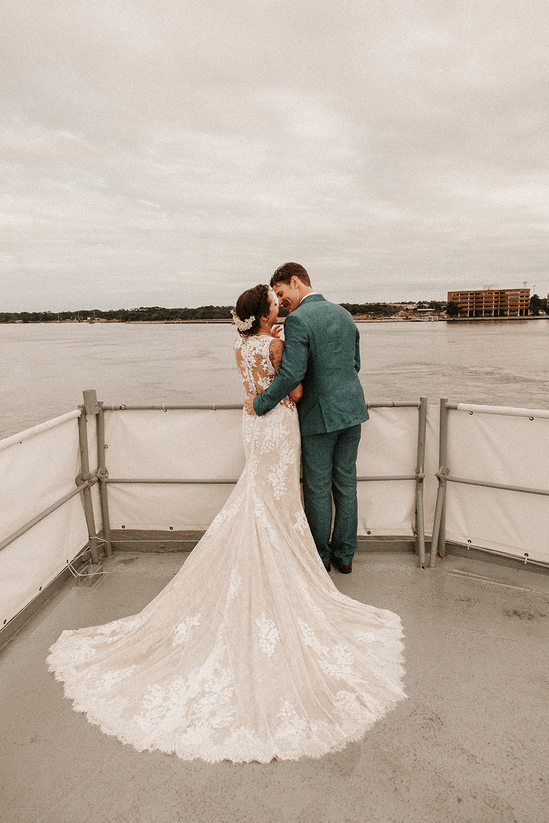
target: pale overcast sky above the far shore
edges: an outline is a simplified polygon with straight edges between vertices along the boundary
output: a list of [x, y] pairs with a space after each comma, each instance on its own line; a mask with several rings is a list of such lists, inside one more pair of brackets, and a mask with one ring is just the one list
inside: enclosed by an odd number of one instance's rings
[[545, 0], [0, 15], [0, 311], [547, 295]]

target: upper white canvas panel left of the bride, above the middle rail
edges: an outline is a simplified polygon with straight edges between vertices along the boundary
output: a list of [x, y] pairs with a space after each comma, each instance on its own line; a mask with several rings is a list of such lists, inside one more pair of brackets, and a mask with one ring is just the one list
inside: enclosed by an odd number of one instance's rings
[[238, 478], [241, 430], [240, 409], [105, 412], [109, 477]]

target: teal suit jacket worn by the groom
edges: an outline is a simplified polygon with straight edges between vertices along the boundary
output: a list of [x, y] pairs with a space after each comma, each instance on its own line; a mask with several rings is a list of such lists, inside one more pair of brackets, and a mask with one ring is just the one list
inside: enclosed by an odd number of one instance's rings
[[284, 321], [284, 354], [272, 384], [254, 399], [258, 416], [303, 384], [297, 404], [302, 436], [347, 429], [368, 420], [358, 372], [360, 335], [346, 309], [322, 295], [304, 298]]

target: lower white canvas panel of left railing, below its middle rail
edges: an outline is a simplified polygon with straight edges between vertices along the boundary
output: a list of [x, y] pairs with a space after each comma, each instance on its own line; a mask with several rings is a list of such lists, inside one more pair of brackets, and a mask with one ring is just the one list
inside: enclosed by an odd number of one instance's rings
[[81, 495], [76, 495], [0, 551], [0, 625], [57, 577], [87, 539]]

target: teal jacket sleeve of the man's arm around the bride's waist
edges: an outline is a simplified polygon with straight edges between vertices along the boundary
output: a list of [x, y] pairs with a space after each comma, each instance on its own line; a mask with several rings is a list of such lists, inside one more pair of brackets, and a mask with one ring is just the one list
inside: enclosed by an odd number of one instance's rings
[[309, 336], [300, 319], [291, 314], [284, 321], [284, 338], [280, 371], [272, 384], [254, 399], [254, 409], [259, 417], [277, 406], [305, 377]]

